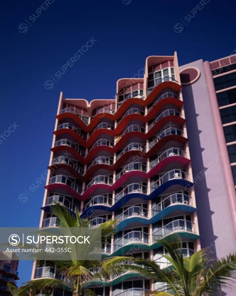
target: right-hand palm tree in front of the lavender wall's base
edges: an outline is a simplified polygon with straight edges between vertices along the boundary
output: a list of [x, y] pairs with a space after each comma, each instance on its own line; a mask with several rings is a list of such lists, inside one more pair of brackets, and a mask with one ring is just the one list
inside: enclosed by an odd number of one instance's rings
[[[209, 296], [216, 295], [221, 287], [229, 288], [235, 284], [236, 253], [219, 260], [205, 258], [206, 250], [202, 249], [191, 257], [184, 257], [180, 239], [175, 237], [174, 240], [174, 244], [164, 239], [159, 241], [168, 252], [164, 255], [170, 262], [166, 268], [161, 269], [154, 260], [113, 257], [102, 262], [98, 276], [103, 274], [109, 279], [114, 274], [136, 271], [158, 282], [158, 290], [145, 291], [149, 296]], [[135, 264], [127, 264], [130, 260]]]

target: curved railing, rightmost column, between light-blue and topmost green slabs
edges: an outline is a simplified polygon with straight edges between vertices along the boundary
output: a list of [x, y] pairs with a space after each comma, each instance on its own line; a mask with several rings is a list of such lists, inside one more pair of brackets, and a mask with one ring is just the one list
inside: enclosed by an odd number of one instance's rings
[[154, 230], [153, 231], [153, 240], [161, 239], [162, 237], [167, 236], [168, 234], [172, 233], [173, 231], [193, 231], [194, 223], [185, 219], [178, 219], [174, 220], [164, 227]]

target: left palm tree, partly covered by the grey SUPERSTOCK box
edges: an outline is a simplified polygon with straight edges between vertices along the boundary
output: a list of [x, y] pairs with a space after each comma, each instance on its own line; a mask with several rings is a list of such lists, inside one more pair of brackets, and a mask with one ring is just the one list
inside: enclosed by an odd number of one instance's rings
[[[81, 219], [79, 212], [75, 214], [68, 211], [66, 207], [56, 204], [52, 207], [52, 213], [59, 218], [60, 227], [88, 227], [89, 220]], [[114, 233], [116, 221], [108, 221], [101, 224], [102, 243]], [[84, 283], [94, 278], [93, 270], [101, 264], [100, 260], [55, 260], [49, 265], [55, 267], [56, 278], [35, 279], [28, 281], [17, 290], [17, 295], [24, 296], [26, 292], [36, 295], [38, 290], [43, 290], [50, 295], [49, 289], [67, 289], [74, 296], [80, 296], [84, 291], [93, 295], [89, 289], [83, 288]]]

